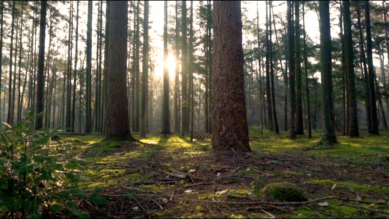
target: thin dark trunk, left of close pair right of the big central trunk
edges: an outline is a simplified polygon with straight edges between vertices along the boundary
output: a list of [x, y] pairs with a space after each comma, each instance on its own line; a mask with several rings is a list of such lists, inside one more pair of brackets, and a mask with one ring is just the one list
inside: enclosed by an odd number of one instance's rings
[[268, 110], [268, 129], [274, 131], [272, 94], [270, 89], [270, 42], [269, 42], [269, 19], [268, 19], [268, 1], [266, 1], [266, 100]]

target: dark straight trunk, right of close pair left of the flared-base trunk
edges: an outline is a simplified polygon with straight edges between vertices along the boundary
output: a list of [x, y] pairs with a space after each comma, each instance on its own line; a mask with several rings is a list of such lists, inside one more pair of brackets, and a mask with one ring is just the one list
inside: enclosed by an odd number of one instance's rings
[[[303, 95], [301, 86], [301, 43], [300, 43], [300, 1], [294, 1], [294, 33], [296, 53], [296, 134], [304, 134]], [[293, 116], [293, 115], [292, 115]]]

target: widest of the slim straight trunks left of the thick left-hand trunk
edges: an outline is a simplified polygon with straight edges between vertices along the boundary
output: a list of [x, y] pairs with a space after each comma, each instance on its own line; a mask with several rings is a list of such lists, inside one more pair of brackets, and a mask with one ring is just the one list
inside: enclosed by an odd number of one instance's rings
[[85, 133], [89, 134], [92, 131], [92, 109], [91, 109], [91, 93], [92, 93], [92, 1], [88, 1], [88, 24], [86, 34], [86, 120]]

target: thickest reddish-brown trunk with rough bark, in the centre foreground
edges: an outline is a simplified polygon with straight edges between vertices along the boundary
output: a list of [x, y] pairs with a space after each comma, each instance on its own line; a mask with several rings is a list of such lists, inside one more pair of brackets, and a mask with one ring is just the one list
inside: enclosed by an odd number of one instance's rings
[[212, 149], [250, 151], [240, 1], [214, 1]]

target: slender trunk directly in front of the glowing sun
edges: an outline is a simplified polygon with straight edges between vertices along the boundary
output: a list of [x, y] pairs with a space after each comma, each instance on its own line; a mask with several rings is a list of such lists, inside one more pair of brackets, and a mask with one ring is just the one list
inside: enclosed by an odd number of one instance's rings
[[168, 60], [168, 1], [165, 1], [163, 8], [163, 125], [162, 133], [164, 137], [170, 134], [170, 110], [169, 110], [169, 69], [166, 65]]

